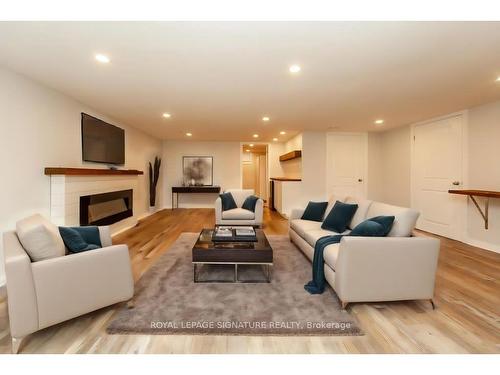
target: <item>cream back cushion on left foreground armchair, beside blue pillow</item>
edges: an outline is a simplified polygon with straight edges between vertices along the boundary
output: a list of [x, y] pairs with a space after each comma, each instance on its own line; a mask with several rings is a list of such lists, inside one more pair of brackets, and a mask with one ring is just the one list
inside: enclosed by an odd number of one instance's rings
[[19, 242], [33, 262], [56, 258], [66, 253], [57, 226], [42, 215], [29, 216], [16, 223]]

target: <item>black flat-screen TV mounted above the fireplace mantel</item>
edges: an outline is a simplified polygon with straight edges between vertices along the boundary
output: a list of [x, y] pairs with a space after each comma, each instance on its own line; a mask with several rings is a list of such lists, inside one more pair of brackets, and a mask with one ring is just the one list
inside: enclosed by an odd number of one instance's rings
[[125, 131], [82, 113], [82, 157], [84, 161], [125, 163]]

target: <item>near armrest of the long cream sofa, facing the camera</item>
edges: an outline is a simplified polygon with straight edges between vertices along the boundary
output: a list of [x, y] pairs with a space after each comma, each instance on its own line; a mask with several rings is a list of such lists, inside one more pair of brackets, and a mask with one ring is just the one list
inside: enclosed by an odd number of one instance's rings
[[334, 289], [343, 302], [431, 299], [439, 240], [343, 237]]

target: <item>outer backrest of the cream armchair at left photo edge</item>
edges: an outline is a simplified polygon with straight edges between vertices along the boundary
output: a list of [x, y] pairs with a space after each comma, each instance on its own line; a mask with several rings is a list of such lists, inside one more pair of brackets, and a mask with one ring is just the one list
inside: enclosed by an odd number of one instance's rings
[[10, 334], [22, 338], [38, 330], [36, 289], [31, 259], [14, 231], [3, 235]]

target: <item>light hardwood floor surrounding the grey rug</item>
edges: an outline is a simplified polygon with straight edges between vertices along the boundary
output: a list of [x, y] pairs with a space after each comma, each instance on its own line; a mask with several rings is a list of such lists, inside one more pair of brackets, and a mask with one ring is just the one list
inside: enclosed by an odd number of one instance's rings
[[[287, 222], [265, 210], [265, 232]], [[214, 224], [213, 209], [164, 210], [114, 238], [126, 243], [137, 280], [182, 232]], [[298, 251], [298, 250], [297, 250]], [[364, 336], [108, 335], [118, 306], [49, 327], [25, 339], [22, 353], [500, 353], [500, 254], [441, 238], [436, 298], [357, 303], [348, 310]], [[10, 353], [6, 303], [0, 302], [0, 353]]]

